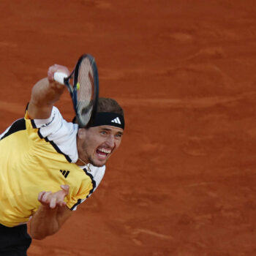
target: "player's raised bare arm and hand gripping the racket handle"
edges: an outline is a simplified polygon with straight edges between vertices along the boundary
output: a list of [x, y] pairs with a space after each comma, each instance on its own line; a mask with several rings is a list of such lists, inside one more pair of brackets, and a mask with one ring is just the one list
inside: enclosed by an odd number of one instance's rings
[[55, 72], [64, 72], [69, 75], [67, 67], [53, 65], [48, 69], [48, 77], [39, 80], [33, 87], [29, 102], [28, 113], [32, 119], [46, 119], [50, 117], [54, 102], [65, 90], [65, 86], [53, 79]]

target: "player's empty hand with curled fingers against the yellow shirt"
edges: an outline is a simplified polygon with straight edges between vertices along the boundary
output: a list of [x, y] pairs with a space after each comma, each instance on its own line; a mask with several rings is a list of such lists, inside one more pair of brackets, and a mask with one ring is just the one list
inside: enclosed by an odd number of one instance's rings
[[38, 200], [42, 203], [43, 206], [48, 206], [50, 208], [56, 208], [56, 206], [66, 206], [66, 202], [64, 202], [64, 198], [69, 193], [68, 185], [61, 185], [61, 190], [53, 193], [53, 192], [39, 192]]

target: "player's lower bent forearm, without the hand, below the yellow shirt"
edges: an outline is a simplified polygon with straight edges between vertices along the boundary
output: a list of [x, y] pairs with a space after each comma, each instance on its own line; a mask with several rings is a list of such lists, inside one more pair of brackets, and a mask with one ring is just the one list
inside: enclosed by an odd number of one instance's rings
[[61, 227], [61, 223], [59, 222], [60, 213], [60, 207], [52, 209], [48, 206], [40, 206], [31, 219], [31, 237], [40, 240], [56, 233]]

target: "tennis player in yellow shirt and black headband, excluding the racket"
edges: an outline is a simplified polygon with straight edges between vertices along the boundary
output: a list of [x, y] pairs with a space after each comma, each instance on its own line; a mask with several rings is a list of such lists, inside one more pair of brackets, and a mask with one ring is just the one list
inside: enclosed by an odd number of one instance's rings
[[99, 98], [94, 122], [80, 128], [54, 106], [65, 90], [54, 72], [69, 75], [67, 67], [50, 67], [33, 87], [25, 116], [0, 135], [1, 256], [24, 256], [31, 238], [56, 233], [97, 189], [121, 143], [124, 113], [116, 100]]

